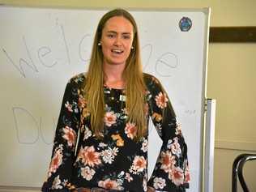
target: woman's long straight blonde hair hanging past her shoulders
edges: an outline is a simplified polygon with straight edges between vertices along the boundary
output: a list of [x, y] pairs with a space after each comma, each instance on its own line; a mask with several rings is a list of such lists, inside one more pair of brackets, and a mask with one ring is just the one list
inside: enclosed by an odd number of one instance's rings
[[105, 23], [114, 16], [121, 16], [130, 21], [134, 29], [133, 47], [126, 60], [126, 67], [122, 77], [125, 79], [126, 110], [128, 113], [127, 122], [133, 122], [137, 126], [136, 139], [143, 137], [147, 130], [145, 117], [144, 91], [146, 89], [143, 80], [143, 70], [139, 51], [139, 36], [137, 24], [132, 15], [123, 9], [115, 9], [106, 13], [101, 19], [96, 29], [96, 35], [92, 45], [92, 56], [87, 70], [84, 84], [84, 97], [87, 100], [87, 109], [90, 113], [92, 130], [96, 137], [100, 138], [104, 129], [105, 101], [104, 101], [104, 55], [98, 43], [100, 42], [102, 30]]

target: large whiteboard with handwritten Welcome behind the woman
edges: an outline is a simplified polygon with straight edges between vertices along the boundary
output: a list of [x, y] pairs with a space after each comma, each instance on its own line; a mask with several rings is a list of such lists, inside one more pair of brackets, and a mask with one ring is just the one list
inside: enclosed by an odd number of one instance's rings
[[[0, 7], [0, 186], [41, 187], [70, 77], [87, 70], [96, 24], [106, 10]], [[131, 10], [143, 70], [169, 94], [188, 145], [190, 190], [203, 167], [208, 9]], [[182, 17], [192, 28], [181, 32]], [[149, 173], [160, 145], [150, 127]]]

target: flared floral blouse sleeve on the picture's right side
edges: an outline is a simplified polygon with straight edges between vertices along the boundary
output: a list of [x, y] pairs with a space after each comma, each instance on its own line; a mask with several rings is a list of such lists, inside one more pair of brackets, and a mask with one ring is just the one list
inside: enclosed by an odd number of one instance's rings
[[186, 191], [189, 188], [190, 172], [181, 126], [177, 123], [169, 97], [159, 80], [151, 76], [147, 88], [150, 92], [147, 101], [151, 120], [163, 141], [147, 186], [156, 191]]

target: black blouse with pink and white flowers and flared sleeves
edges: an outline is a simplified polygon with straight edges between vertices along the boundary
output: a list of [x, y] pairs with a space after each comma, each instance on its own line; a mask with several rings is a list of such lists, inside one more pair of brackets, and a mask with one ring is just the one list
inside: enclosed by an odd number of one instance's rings
[[[126, 121], [124, 90], [104, 87], [104, 139], [96, 139], [82, 96], [85, 76], [80, 74], [66, 85], [48, 178], [42, 191], [100, 187], [143, 192], [147, 191], [147, 186], [158, 191], [185, 191], [190, 173], [181, 126], [176, 122], [160, 82], [147, 74], [144, 74], [144, 80], [147, 119], [151, 117], [163, 140], [151, 177], [147, 177], [147, 136], [135, 141], [137, 128], [133, 122]], [[163, 111], [166, 115], [164, 122]]]

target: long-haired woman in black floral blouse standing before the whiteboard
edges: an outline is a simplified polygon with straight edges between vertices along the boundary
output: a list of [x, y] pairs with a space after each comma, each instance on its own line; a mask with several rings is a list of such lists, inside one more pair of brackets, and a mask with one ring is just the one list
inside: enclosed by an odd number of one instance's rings
[[[163, 140], [147, 178], [147, 123]], [[143, 74], [134, 18], [106, 13], [86, 74], [66, 85], [43, 191], [185, 191], [186, 143], [160, 82]]]

